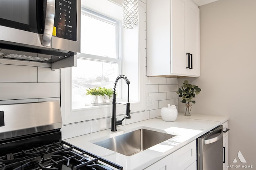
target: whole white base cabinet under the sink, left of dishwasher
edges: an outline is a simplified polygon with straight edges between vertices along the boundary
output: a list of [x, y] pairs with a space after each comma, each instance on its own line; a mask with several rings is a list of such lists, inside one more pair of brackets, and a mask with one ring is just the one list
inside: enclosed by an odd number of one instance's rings
[[196, 140], [194, 140], [145, 170], [196, 170], [196, 158]]

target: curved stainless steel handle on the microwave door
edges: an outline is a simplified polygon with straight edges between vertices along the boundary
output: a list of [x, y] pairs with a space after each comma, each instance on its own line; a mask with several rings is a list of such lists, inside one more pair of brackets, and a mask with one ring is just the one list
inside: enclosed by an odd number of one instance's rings
[[52, 30], [55, 18], [55, 0], [46, 0], [46, 18], [44, 26], [44, 34], [42, 38], [42, 45], [50, 46], [52, 42]]

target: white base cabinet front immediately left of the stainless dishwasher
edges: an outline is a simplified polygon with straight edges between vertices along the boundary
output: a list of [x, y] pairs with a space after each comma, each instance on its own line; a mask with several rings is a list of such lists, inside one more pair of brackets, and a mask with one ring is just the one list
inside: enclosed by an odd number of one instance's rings
[[[173, 153], [173, 169], [185, 170], [189, 168], [196, 161], [196, 140], [190, 142], [186, 146], [183, 146], [179, 150]], [[191, 166], [189, 169], [196, 170]]]

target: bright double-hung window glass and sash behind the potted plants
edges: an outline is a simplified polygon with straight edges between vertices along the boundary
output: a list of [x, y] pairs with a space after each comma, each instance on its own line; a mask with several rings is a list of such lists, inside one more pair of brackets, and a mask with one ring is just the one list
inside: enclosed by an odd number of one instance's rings
[[[120, 74], [118, 21], [82, 8], [81, 54], [72, 68], [72, 109], [86, 108], [86, 89], [112, 88]], [[120, 93], [120, 92], [119, 92]]]

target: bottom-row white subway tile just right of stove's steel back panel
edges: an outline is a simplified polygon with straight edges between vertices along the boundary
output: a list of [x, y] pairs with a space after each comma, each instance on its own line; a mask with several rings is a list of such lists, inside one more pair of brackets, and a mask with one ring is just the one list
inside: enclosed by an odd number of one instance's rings
[[[78, 129], [78, 130], [74, 130], [74, 129]], [[62, 140], [67, 138], [72, 138], [75, 136], [81, 136], [83, 134], [88, 134], [90, 132], [91, 132], [90, 121], [65, 125], [65, 126], [62, 126], [61, 128]]]

